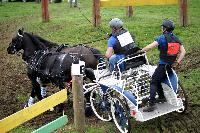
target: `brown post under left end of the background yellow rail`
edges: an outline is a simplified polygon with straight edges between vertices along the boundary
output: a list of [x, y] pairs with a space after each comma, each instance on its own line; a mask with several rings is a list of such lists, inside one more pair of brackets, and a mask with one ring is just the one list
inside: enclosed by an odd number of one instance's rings
[[93, 25], [95, 27], [100, 26], [101, 15], [100, 15], [100, 0], [93, 0]]

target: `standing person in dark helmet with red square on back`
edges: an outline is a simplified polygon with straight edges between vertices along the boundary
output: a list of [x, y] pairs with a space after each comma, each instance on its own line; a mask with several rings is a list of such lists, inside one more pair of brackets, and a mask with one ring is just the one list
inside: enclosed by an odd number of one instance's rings
[[181, 61], [186, 54], [185, 48], [183, 47], [181, 41], [172, 32], [174, 28], [175, 26], [173, 21], [164, 20], [161, 25], [162, 35], [158, 36], [154, 42], [147, 45], [141, 50], [141, 52], [145, 52], [158, 46], [158, 50], [160, 51], [159, 64], [152, 76], [152, 80], [150, 83], [149, 106], [143, 109], [144, 112], [151, 112], [155, 110], [156, 92], [159, 96], [157, 102], [166, 101], [161, 86], [161, 81], [166, 78], [166, 71], [168, 73], [172, 71], [172, 67], [174, 64], [181, 64]]

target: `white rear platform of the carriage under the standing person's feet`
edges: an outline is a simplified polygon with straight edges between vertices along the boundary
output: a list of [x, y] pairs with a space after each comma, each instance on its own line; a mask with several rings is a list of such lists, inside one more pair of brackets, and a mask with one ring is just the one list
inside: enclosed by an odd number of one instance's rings
[[143, 112], [143, 108], [140, 108], [138, 111], [138, 113], [136, 113], [136, 115], [134, 117], [136, 117], [136, 120], [138, 121], [147, 121], [147, 120], [150, 120], [150, 119], [153, 119], [153, 118], [156, 118], [158, 116], [161, 116], [161, 115], [164, 115], [164, 114], [167, 114], [167, 113], [170, 113], [170, 112], [173, 112], [173, 111], [176, 111], [176, 110], [179, 110], [179, 109], [182, 109], [183, 108], [183, 105], [180, 105], [180, 106], [174, 106], [174, 105], [171, 105], [167, 102], [165, 103], [157, 103], [156, 104], [156, 109], [152, 112]]

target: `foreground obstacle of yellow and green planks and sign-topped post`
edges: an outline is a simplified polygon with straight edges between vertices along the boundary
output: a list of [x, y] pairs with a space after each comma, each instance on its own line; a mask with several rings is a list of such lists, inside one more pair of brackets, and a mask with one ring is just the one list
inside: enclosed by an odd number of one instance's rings
[[[85, 110], [83, 94], [83, 73], [85, 62], [79, 61], [78, 64], [72, 64], [72, 91], [75, 127], [79, 132], [85, 132]], [[63, 103], [67, 99], [67, 90], [63, 89], [52, 96], [49, 96], [30, 107], [16, 112], [0, 120], [0, 132], [5, 133], [20, 124], [38, 116], [39, 114]], [[42, 126], [32, 133], [50, 133], [68, 122], [67, 116], [63, 115], [56, 120]]]

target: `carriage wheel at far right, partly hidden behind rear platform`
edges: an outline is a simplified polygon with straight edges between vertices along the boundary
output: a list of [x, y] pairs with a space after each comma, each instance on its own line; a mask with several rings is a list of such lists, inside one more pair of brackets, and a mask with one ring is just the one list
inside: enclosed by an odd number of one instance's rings
[[180, 81], [178, 82], [178, 91], [177, 91], [177, 97], [182, 99], [183, 102], [183, 108], [177, 110], [178, 113], [185, 113], [185, 111], [187, 110], [187, 96], [185, 93], [185, 90], [183, 88], [183, 86], [181, 85]]

